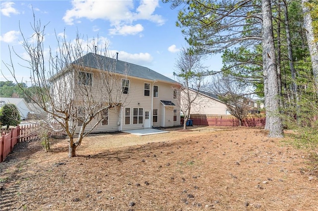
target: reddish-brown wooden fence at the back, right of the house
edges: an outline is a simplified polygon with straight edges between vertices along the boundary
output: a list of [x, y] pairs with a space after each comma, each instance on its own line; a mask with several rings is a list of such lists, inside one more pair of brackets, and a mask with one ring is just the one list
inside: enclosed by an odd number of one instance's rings
[[[190, 119], [193, 120], [193, 125], [217, 126], [217, 127], [238, 127], [239, 126], [239, 119], [235, 117], [191, 115]], [[265, 126], [265, 117], [248, 117], [242, 121], [242, 126], [245, 126], [245, 127]]]

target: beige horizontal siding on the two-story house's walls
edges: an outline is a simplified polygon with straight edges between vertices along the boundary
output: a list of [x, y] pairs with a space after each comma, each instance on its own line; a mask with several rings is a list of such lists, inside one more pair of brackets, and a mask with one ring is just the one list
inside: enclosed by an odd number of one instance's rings
[[[89, 72], [90, 70], [86, 70]], [[93, 73], [93, 83], [91, 87], [88, 87], [95, 101], [103, 101], [105, 102], [108, 99], [107, 93], [102, 89], [101, 76], [97, 71], [91, 70]], [[145, 127], [145, 111], [150, 111], [150, 119], [151, 119], [151, 127], [159, 127], [159, 126], [173, 126], [180, 125], [180, 115], [177, 115], [177, 121], [173, 121], [173, 108], [177, 108], [177, 113], [180, 113], [179, 105], [177, 99], [173, 99], [173, 84], [164, 83], [164, 82], [155, 82], [152, 80], [135, 78], [135, 77], [126, 77], [124, 75], [116, 75], [112, 76], [115, 80], [117, 80], [116, 87], [114, 90], [115, 95], [112, 95], [113, 99], [118, 102], [118, 97], [120, 98], [120, 102], [122, 106], [118, 106], [117, 109], [110, 109], [108, 115], [108, 125], [99, 125], [92, 132], [108, 132], [108, 131], [118, 131], [118, 130], [132, 130], [132, 129], [143, 129]], [[129, 90], [128, 94], [121, 94], [121, 79], [129, 80]], [[144, 88], [145, 83], [150, 83], [150, 96], [144, 96]], [[153, 97], [153, 85], [159, 87], [159, 97]], [[117, 94], [117, 95], [116, 95]], [[106, 99], [105, 99], [106, 98]], [[152, 106], [153, 100], [153, 106]], [[163, 101], [172, 101], [176, 106], [172, 106], [171, 108], [165, 107], [160, 103], [160, 100]], [[114, 101], [113, 101], [114, 102]], [[129, 107], [130, 111], [130, 124], [125, 125], [125, 108]], [[133, 124], [133, 108], [143, 108], [143, 123], [142, 124]], [[158, 122], [153, 123], [153, 108], [158, 108]], [[163, 114], [165, 113], [165, 116]], [[169, 121], [170, 120], [170, 121]], [[90, 128], [90, 126], [94, 125], [96, 121], [92, 121], [90, 125], [86, 126], [86, 131]], [[119, 124], [119, 125], [118, 125]], [[77, 128], [79, 130], [79, 127]]]

